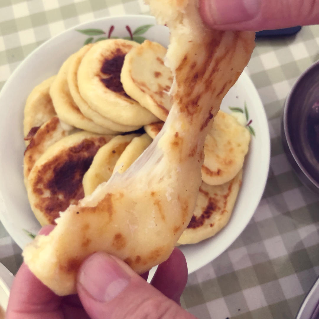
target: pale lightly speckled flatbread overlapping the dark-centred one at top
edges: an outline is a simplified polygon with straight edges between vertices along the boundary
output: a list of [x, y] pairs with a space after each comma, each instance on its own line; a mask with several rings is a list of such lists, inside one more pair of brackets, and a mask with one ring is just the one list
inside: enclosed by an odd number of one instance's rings
[[168, 93], [173, 75], [164, 64], [166, 52], [159, 43], [145, 40], [125, 56], [121, 72], [125, 92], [162, 121], [172, 106]]

